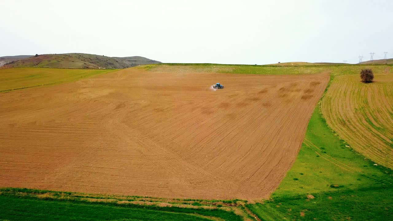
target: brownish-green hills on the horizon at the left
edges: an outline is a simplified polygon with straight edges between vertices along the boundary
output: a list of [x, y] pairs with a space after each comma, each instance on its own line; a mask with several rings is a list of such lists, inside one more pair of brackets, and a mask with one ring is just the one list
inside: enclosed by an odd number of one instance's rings
[[[42, 68], [77, 68], [77, 69], [121, 69], [140, 64], [158, 64], [145, 57], [107, 57], [86, 53], [43, 54], [4, 56], [0, 68], [42, 67]], [[8, 62], [7, 62], [8, 61]]]

